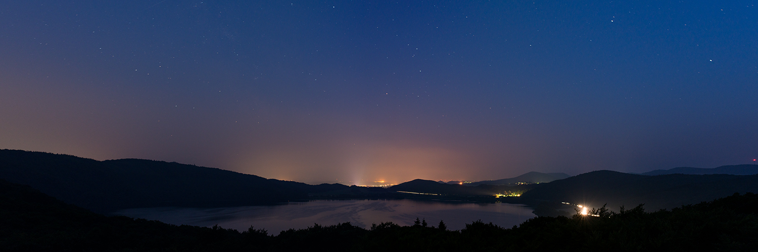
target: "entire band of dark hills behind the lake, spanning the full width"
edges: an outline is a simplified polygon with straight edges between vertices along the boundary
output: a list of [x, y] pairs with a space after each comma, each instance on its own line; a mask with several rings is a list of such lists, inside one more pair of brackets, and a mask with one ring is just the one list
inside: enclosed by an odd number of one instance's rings
[[[582, 204], [611, 210], [645, 204], [647, 210], [711, 201], [735, 192], [758, 192], [756, 165], [713, 169], [681, 167], [645, 175], [596, 171], [526, 173], [511, 179], [448, 185], [415, 179], [391, 188], [308, 185], [216, 168], [155, 160], [98, 161], [64, 154], [0, 150], [0, 179], [30, 185], [67, 204], [97, 213], [138, 207], [235, 207], [310, 199], [421, 198], [528, 204], [538, 215], [571, 215]], [[566, 178], [568, 177], [568, 178]], [[562, 179], [563, 178], [563, 179]], [[528, 182], [528, 185], [514, 185]], [[537, 184], [539, 182], [539, 184]], [[436, 195], [430, 195], [436, 194]], [[494, 198], [493, 194], [521, 197]], [[569, 204], [561, 204], [561, 202]]]

